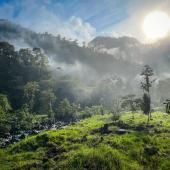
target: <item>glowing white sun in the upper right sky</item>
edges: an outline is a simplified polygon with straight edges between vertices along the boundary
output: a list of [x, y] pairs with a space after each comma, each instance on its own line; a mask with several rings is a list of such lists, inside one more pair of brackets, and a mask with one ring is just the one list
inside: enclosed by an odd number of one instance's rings
[[163, 38], [170, 30], [170, 18], [162, 11], [151, 12], [144, 18], [143, 30], [148, 40]]

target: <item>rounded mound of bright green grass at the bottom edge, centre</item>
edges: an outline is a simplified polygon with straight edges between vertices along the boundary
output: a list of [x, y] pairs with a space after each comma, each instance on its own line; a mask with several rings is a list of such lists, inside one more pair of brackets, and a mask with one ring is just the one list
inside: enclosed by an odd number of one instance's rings
[[[63, 169], [124, 169], [124, 156], [109, 146], [101, 145], [97, 148], [82, 148], [67, 160]], [[126, 166], [127, 167], [127, 166]]]

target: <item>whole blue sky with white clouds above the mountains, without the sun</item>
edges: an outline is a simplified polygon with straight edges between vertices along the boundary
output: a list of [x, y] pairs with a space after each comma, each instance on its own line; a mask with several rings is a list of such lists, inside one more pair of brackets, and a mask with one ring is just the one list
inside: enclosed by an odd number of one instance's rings
[[168, 10], [168, 0], [0, 0], [0, 18], [80, 41], [97, 35], [141, 39], [142, 18], [158, 7]]

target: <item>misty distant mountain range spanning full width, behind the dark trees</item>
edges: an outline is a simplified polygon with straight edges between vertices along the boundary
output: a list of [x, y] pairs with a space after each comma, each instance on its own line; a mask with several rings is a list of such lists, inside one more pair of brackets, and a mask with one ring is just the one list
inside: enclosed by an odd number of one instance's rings
[[17, 48], [42, 48], [56, 68], [64, 67], [67, 72], [74, 70], [76, 74], [83, 72], [89, 76], [94, 72], [99, 77], [115, 74], [128, 78], [140, 73], [144, 64], [150, 64], [157, 74], [167, 75], [170, 71], [170, 37], [154, 44], [142, 44], [128, 36], [96, 37], [81, 47], [77, 41], [60, 35], [36, 33], [1, 19], [0, 41], [8, 41]]

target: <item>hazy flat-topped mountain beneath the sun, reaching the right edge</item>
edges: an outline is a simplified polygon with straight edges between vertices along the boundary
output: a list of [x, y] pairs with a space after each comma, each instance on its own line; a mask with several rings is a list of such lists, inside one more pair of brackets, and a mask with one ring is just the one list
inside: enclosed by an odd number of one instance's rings
[[149, 64], [157, 74], [170, 72], [170, 35], [152, 44], [142, 44], [127, 36], [96, 37], [88, 46], [131, 63]]

